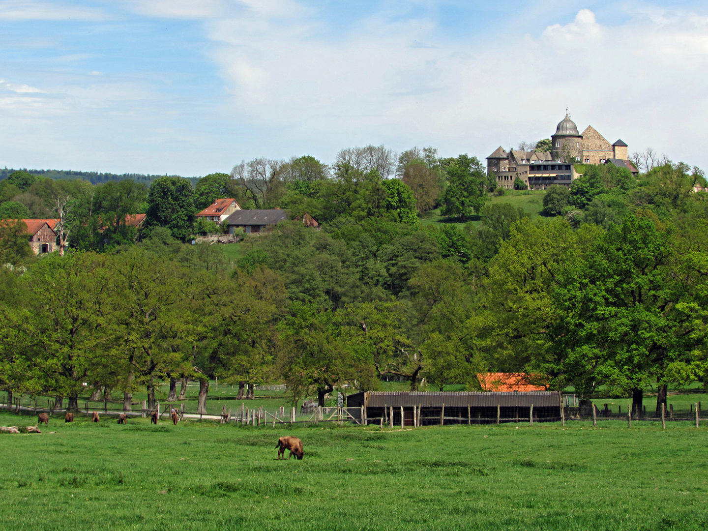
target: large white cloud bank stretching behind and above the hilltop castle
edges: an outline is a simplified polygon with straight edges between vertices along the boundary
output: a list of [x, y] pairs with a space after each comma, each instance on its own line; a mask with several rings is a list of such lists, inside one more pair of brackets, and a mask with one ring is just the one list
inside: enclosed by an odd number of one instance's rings
[[695, 13], [637, 12], [613, 26], [582, 9], [540, 35], [501, 32], [481, 45], [449, 40], [430, 20], [383, 17], [327, 40], [309, 13], [270, 13], [214, 21], [210, 38], [222, 44], [213, 57], [234, 112], [280, 128], [271, 145], [333, 156], [356, 143], [433, 144], [486, 156], [548, 137], [569, 105], [578, 127], [610, 142], [708, 165], [686, 142], [708, 121], [708, 18]]

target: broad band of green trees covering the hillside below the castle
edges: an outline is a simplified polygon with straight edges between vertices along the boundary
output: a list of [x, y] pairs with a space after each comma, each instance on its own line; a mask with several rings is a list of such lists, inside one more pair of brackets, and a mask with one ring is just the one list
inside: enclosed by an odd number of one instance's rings
[[[474, 156], [344, 149], [255, 159], [192, 181], [0, 181], [0, 386], [78, 406], [209, 380], [285, 382], [293, 402], [400, 379], [479, 389], [525, 372], [583, 398], [708, 384], [708, 194], [700, 169], [581, 166], [532, 217]], [[523, 192], [513, 192], [523, 193]], [[526, 192], [530, 193], [530, 192]], [[191, 244], [216, 198], [291, 220], [238, 244]], [[492, 200], [493, 199], [493, 200]], [[63, 256], [22, 218], [64, 212]], [[304, 227], [307, 212], [321, 230]], [[438, 223], [426, 223], [431, 212]], [[126, 222], [147, 214], [144, 225]], [[234, 251], [235, 249], [235, 251]]]

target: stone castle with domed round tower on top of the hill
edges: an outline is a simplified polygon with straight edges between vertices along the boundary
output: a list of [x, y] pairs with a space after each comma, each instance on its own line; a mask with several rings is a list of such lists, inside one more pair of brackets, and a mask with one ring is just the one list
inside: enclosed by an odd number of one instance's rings
[[573, 163], [614, 164], [627, 168], [636, 175], [639, 171], [629, 160], [627, 144], [617, 140], [614, 144], [588, 125], [581, 134], [568, 113], [556, 127], [551, 137], [551, 150], [524, 152], [499, 146], [487, 158], [487, 173], [494, 172], [501, 188], [513, 188], [520, 178], [531, 190], [545, 190], [552, 184], [570, 188], [574, 179], [581, 176]]

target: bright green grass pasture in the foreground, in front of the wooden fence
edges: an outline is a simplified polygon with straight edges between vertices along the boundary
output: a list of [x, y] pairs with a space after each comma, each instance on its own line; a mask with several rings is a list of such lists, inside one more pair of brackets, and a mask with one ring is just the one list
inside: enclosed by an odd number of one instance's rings
[[[3, 426], [35, 421], [0, 413]], [[708, 430], [626, 426], [287, 430], [52, 420], [40, 435], [0, 435], [0, 527], [705, 529]], [[275, 461], [285, 434], [304, 441], [302, 461]]]

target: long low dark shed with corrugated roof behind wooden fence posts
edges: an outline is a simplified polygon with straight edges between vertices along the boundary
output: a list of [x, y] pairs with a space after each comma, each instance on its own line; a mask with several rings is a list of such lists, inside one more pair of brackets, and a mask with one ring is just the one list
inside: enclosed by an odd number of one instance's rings
[[360, 392], [347, 396], [365, 423], [401, 426], [493, 424], [561, 420], [561, 394], [528, 392]]

